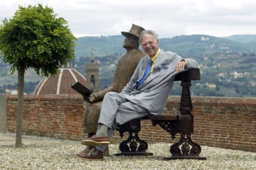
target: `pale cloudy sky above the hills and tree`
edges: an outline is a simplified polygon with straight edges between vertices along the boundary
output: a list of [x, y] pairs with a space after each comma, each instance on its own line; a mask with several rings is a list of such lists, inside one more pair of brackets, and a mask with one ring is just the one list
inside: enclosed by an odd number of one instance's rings
[[160, 38], [206, 34], [256, 34], [255, 0], [0, 0], [0, 23], [18, 5], [38, 3], [65, 18], [76, 37], [120, 35], [132, 23]]

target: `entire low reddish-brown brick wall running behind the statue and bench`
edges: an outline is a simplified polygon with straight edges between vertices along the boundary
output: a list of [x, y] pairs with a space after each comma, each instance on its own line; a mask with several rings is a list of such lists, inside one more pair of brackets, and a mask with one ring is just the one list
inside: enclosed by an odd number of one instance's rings
[[[24, 134], [81, 140], [83, 110], [80, 95], [25, 95]], [[7, 95], [7, 131], [15, 132], [17, 96]], [[170, 96], [166, 114], [179, 112], [179, 96]], [[200, 145], [256, 151], [256, 98], [217, 98], [194, 96], [193, 141]], [[119, 138], [114, 133], [113, 138]], [[173, 142], [167, 132], [150, 120], [142, 120], [140, 138], [150, 142]], [[177, 141], [177, 139], [175, 139]]]

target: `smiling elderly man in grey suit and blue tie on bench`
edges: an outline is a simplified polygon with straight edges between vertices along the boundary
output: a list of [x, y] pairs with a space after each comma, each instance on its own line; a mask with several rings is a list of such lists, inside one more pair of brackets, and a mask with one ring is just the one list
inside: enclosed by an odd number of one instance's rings
[[102, 152], [110, 144], [117, 125], [149, 114], [161, 114], [175, 76], [180, 71], [198, 67], [193, 59], [162, 51], [154, 31], [142, 31], [139, 42], [146, 55], [120, 93], [105, 94], [96, 135], [81, 142], [93, 147], [84, 154], [84, 159], [103, 159]]

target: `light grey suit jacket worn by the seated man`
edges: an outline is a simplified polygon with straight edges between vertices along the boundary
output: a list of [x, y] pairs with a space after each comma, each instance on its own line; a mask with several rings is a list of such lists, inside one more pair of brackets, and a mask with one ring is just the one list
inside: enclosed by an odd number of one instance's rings
[[[151, 114], [161, 114], [166, 104], [170, 90], [173, 87], [174, 78], [179, 73], [176, 71], [176, 63], [182, 58], [173, 52], [161, 52], [153, 68], [153, 74], [136, 89], [136, 81], [139, 81], [147, 65], [147, 56], [138, 63], [131, 81], [121, 91], [127, 100], [146, 108]], [[189, 68], [198, 68], [193, 59], [186, 59]], [[184, 71], [185, 71], [184, 70]]]

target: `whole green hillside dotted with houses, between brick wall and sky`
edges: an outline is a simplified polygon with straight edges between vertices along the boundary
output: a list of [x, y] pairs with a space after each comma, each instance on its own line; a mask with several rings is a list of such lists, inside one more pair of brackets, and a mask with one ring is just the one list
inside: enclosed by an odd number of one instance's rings
[[[161, 38], [160, 47], [180, 56], [196, 59], [201, 67], [201, 80], [193, 81], [191, 93], [203, 96], [256, 97], [256, 35], [234, 35], [220, 38], [208, 35], [182, 35]], [[75, 68], [86, 76], [93, 47], [99, 62], [99, 87], [112, 83], [119, 58], [126, 52], [124, 36], [81, 37], [75, 47]], [[0, 62], [0, 93], [3, 87], [16, 88], [17, 74], [9, 75], [10, 67]], [[25, 92], [33, 92], [41, 77], [32, 71], [25, 75]], [[171, 94], [180, 95], [179, 82]]]

